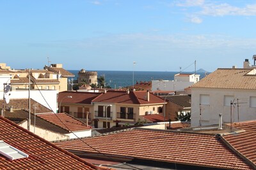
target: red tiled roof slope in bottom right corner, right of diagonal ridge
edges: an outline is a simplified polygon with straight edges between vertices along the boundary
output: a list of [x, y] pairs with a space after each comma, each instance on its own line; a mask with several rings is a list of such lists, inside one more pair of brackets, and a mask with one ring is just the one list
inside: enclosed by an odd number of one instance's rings
[[223, 138], [238, 152], [252, 161], [256, 167], [256, 120], [234, 123], [233, 125], [237, 129], [243, 129], [244, 132], [229, 134], [223, 136]]

